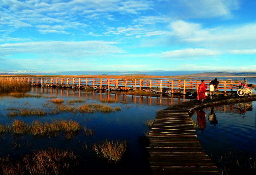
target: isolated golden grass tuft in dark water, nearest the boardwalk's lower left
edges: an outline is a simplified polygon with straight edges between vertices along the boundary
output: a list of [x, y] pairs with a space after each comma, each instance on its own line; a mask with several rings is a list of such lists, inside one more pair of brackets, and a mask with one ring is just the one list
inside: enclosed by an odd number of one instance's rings
[[117, 163], [121, 160], [124, 152], [127, 150], [126, 141], [116, 141], [106, 139], [105, 141], [94, 143], [92, 149], [107, 158], [110, 162]]

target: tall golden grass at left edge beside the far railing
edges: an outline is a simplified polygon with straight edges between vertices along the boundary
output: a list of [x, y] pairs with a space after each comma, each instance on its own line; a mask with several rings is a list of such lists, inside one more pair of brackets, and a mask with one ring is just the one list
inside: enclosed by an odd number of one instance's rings
[[30, 86], [26, 83], [0, 79], [0, 92], [17, 92], [29, 90]]

